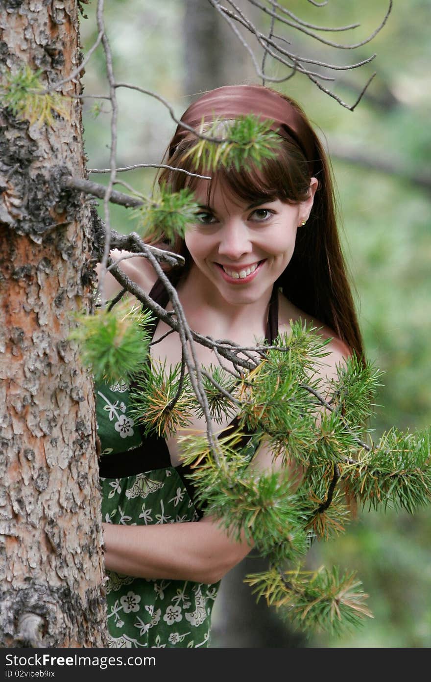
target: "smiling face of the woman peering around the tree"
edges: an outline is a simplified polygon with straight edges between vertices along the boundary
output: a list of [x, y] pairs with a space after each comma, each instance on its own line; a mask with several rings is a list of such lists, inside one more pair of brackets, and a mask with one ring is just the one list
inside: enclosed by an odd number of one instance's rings
[[202, 211], [185, 235], [199, 286], [212, 299], [218, 293], [232, 305], [268, 295], [289, 264], [298, 225], [308, 218], [316, 187], [313, 178], [310, 198], [299, 204], [279, 199], [250, 204], [217, 183], [207, 205], [207, 185], [199, 181], [195, 198]]

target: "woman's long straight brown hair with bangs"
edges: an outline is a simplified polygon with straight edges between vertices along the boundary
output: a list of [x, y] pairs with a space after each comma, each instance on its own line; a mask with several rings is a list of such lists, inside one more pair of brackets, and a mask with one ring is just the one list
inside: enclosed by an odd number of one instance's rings
[[[217, 173], [213, 174], [213, 179], [208, 181], [208, 196], [214, 189], [214, 181], [220, 181], [223, 188], [250, 203], [260, 198], [262, 203], [274, 198], [288, 203], [298, 203], [307, 198], [313, 173], [319, 181], [313, 209], [306, 224], [298, 228], [293, 256], [276, 286], [281, 288], [291, 303], [316, 321], [328, 325], [357, 357], [364, 358], [360, 327], [338, 237], [330, 163], [302, 108], [286, 95], [281, 93], [278, 95], [296, 109], [298, 115], [302, 117], [307, 134], [314, 140], [313, 171], [310, 171], [310, 160], [306, 160], [297, 141], [280, 136], [276, 157], [266, 160], [261, 167], [251, 167], [247, 170], [244, 168], [238, 170], [234, 166], [218, 169]], [[191, 173], [208, 174], [205, 173], [205, 168], [194, 166], [191, 155], [184, 158], [195, 143], [196, 137], [193, 133], [187, 132], [168, 155], [165, 163], [176, 168], [184, 168]], [[186, 187], [193, 190], [197, 179], [185, 173], [164, 169], [159, 174], [159, 183], [172, 192], [178, 192]], [[151, 237], [149, 239], [151, 240]], [[155, 237], [152, 241], [155, 241]], [[157, 241], [163, 241], [163, 235], [161, 237], [160, 233]], [[170, 248], [186, 259], [185, 269], [183, 268], [181, 273], [177, 275], [174, 271], [171, 272], [176, 279], [187, 273], [191, 266], [191, 256], [185, 241], [180, 237], [176, 238], [175, 243], [170, 244]]]

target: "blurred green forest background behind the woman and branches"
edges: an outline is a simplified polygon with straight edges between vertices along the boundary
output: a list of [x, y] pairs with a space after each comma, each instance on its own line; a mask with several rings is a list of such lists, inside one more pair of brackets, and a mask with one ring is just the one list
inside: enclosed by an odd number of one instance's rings
[[[237, 4], [268, 33], [269, 18], [247, 0]], [[361, 24], [354, 33], [341, 34], [340, 42], [365, 38], [387, 9], [385, 0], [330, 0], [321, 8], [305, 0], [280, 4], [312, 23]], [[97, 27], [95, 3], [83, 7], [88, 16], [81, 21], [85, 52], [97, 38]], [[338, 54], [301, 33], [284, 33], [300, 53], [335, 63], [353, 63], [377, 53], [374, 62], [359, 70], [338, 72], [341, 75], [332, 86], [343, 100], [354, 102], [367, 78], [377, 71], [354, 112], [300, 74], [275, 86], [304, 106], [332, 158], [366, 353], [385, 371], [372, 424], [375, 439], [391, 426], [417, 430], [431, 420], [429, 19], [429, 0], [398, 1], [387, 25], [370, 44]], [[206, 0], [110, 0], [105, 20], [117, 80], [157, 92], [178, 116], [202, 91], [259, 82], [249, 54]], [[340, 38], [340, 34], [328, 35]], [[283, 75], [282, 65], [267, 61], [266, 68], [272, 76]], [[84, 94], [106, 90], [100, 48], [86, 66], [83, 83]], [[117, 96], [117, 166], [160, 162], [175, 128], [169, 113], [156, 100], [131, 90], [120, 90]], [[107, 168], [110, 112], [107, 105], [99, 108], [94, 101], [86, 100], [84, 105], [88, 166]], [[148, 193], [154, 173], [137, 169], [121, 179]], [[108, 182], [108, 175], [90, 177], [99, 182], [105, 177]], [[135, 228], [123, 208], [111, 205], [111, 220], [121, 233]], [[370, 595], [374, 620], [367, 619], [362, 629], [340, 638], [303, 638], [290, 632], [272, 609], [256, 606], [242, 576], [260, 567], [256, 559], [247, 558], [223, 580], [212, 646], [429, 647], [430, 538], [429, 508], [415, 516], [365, 509], [345, 535], [315, 546], [310, 567], [336, 563], [355, 569]]]

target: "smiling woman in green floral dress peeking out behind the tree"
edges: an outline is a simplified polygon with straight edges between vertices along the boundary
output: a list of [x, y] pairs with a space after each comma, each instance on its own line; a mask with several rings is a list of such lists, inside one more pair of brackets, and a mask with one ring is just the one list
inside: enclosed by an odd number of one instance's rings
[[[261, 168], [221, 169], [211, 181], [164, 171], [161, 181], [176, 192], [195, 192], [200, 209], [185, 239], [165, 244], [186, 258], [170, 279], [192, 329], [242, 345], [256, 338], [272, 342], [291, 321], [310, 321], [332, 338], [325, 366], [330, 379], [362, 342], [345, 272], [325, 154], [295, 102], [259, 85], [227, 86], [194, 102], [182, 121], [199, 128], [214, 117], [246, 114], [274, 121], [280, 137], [276, 158]], [[187, 151], [193, 133], [178, 126], [167, 163], [192, 172]], [[161, 239], [163, 241], [163, 239]], [[124, 255], [114, 252], [113, 256]], [[162, 306], [169, 299], [153, 268], [136, 256], [123, 260], [129, 278]], [[120, 285], [110, 278], [106, 296]], [[166, 367], [180, 361], [178, 334], [153, 330], [151, 357]], [[203, 366], [217, 364], [212, 351], [197, 346]], [[108, 624], [114, 647], [208, 647], [210, 614], [219, 580], [251, 550], [236, 542], [211, 516], [193, 504], [193, 490], [181, 463], [178, 436], [145, 436], [127, 409], [123, 383], [100, 387], [99, 436], [105, 560], [108, 569]], [[228, 428], [213, 424], [214, 432]], [[190, 430], [205, 431], [193, 418]], [[268, 469], [272, 457], [262, 443], [251, 466]]]

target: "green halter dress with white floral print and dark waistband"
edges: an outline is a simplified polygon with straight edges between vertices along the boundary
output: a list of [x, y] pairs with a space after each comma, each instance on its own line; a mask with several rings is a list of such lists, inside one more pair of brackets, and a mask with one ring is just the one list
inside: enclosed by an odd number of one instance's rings
[[[132, 526], [197, 520], [192, 493], [178, 470], [146, 465], [150, 443], [143, 447], [148, 439], [127, 413], [129, 387], [99, 385], [96, 397], [103, 520]], [[110, 647], [209, 646], [219, 583], [107, 575]]]

